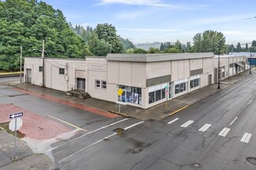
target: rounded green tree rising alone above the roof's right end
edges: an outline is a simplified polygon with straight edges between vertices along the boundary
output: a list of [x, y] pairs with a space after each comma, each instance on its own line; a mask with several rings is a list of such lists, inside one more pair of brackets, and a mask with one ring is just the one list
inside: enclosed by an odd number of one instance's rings
[[193, 41], [195, 52], [213, 52], [214, 54], [224, 52], [225, 38], [221, 32], [204, 31], [195, 34]]

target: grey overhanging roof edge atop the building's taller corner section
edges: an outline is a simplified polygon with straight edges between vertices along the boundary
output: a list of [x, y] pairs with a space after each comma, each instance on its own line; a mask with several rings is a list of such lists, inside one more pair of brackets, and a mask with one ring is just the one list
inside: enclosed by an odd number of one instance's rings
[[213, 52], [197, 52], [197, 53], [157, 53], [157, 54], [128, 54], [128, 53], [109, 53], [106, 60], [109, 61], [130, 61], [130, 62], [158, 62], [169, 60], [189, 60], [213, 58]]

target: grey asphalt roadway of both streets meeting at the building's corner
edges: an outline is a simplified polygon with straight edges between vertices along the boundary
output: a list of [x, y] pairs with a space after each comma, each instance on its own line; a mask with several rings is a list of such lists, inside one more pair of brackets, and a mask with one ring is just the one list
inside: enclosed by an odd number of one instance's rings
[[9, 86], [0, 90], [0, 104], [13, 103], [73, 132], [26, 140], [61, 170], [256, 168], [247, 161], [256, 157], [256, 74], [161, 121], [106, 118]]

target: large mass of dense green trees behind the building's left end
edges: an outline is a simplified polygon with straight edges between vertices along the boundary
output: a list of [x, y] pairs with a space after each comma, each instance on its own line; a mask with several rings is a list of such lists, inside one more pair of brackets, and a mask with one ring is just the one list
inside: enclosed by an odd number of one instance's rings
[[61, 10], [36, 0], [0, 2], [0, 71], [20, 67], [20, 45], [23, 56], [41, 56], [43, 39], [46, 56], [83, 58], [86, 54], [83, 38], [69, 28]]

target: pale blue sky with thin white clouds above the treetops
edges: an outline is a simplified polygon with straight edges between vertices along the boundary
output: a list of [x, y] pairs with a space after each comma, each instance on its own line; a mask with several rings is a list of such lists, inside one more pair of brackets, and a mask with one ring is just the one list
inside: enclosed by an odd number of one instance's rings
[[256, 39], [255, 0], [44, 0], [73, 25], [112, 24], [134, 43], [193, 42], [196, 33], [221, 31], [227, 44]]

